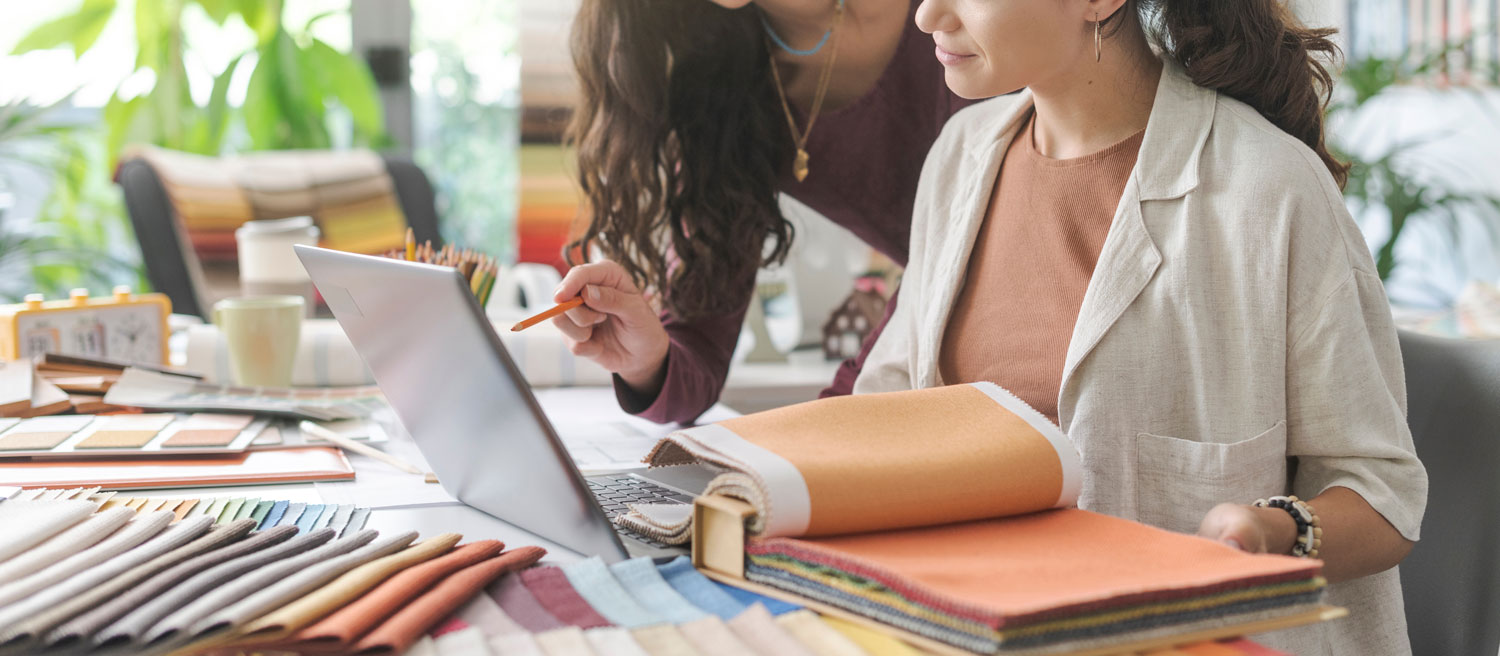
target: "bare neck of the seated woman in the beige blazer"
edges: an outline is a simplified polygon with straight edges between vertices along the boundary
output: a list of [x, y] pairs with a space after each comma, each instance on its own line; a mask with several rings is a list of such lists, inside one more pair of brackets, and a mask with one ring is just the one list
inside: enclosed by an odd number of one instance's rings
[[1146, 128], [1161, 80], [1161, 60], [1132, 24], [1094, 44], [1078, 62], [1030, 86], [1036, 104], [1036, 150], [1053, 159], [1084, 156]]

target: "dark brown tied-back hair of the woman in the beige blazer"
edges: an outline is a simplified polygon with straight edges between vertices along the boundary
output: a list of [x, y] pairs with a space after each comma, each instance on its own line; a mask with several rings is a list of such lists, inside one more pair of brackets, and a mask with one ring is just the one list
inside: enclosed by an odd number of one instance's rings
[[[1302, 24], [1284, 0], [1130, 0], [1116, 17], [1137, 18], [1192, 83], [1240, 101], [1296, 137], [1342, 188], [1348, 164], [1323, 143], [1323, 108], [1334, 92], [1328, 66], [1338, 30]], [[1113, 18], [1113, 17], [1112, 17]]]

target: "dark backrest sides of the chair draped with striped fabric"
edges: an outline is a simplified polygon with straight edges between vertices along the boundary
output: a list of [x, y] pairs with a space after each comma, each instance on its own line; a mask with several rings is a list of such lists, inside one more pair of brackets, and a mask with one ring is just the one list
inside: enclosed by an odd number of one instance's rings
[[[428, 176], [406, 158], [382, 155], [381, 161], [417, 242], [441, 246], [436, 197]], [[188, 237], [172, 215], [160, 176], [144, 159], [128, 159], [120, 164], [116, 182], [124, 192], [124, 207], [152, 287], [171, 299], [172, 312], [207, 318], [202, 266], [192, 248], [184, 248]]]

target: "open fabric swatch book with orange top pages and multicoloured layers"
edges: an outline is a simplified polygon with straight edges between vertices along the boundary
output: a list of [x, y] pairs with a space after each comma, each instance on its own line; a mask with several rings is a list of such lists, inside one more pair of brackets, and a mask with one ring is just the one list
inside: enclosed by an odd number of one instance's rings
[[[987, 383], [688, 428], [646, 461], [718, 468], [705, 495], [753, 509], [744, 579], [970, 651], [1086, 648], [1292, 615], [1324, 587], [1316, 560], [1074, 507], [1083, 470], [1068, 437]], [[638, 504], [618, 521], [682, 543], [693, 518], [686, 504]]]

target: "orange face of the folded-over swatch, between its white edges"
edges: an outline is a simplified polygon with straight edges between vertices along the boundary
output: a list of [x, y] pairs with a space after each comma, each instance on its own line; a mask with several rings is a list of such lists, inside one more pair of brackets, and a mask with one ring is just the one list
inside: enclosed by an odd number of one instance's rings
[[1047, 438], [972, 386], [837, 396], [720, 425], [801, 471], [808, 536], [1018, 515], [1062, 491]]

